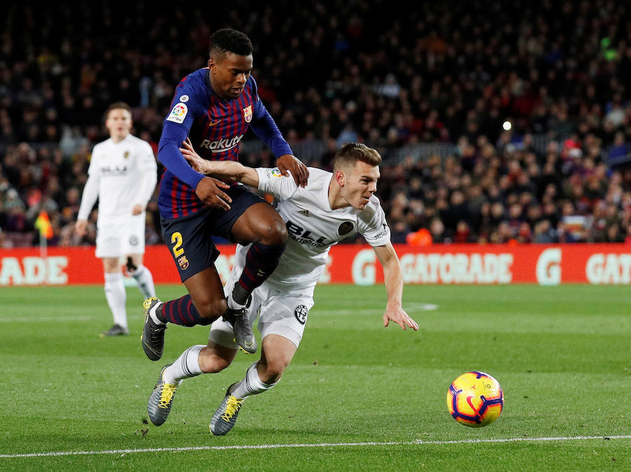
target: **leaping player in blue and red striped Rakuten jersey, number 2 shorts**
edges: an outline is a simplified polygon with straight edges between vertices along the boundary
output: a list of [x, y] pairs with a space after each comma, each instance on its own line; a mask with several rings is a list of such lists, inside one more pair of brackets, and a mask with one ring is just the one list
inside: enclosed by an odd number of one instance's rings
[[[248, 353], [256, 351], [252, 328], [243, 316], [250, 293], [278, 265], [285, 250], [283, 219], [247, 186], [228, 185], [196, 172], [179, 148], [187, 139], [208, 160], [238, 160], [239, 143], [248, 127], [279, 156], [276, 165], [299, 186], [306, 166], [292, 155], [276, 123], [262, 104], [252, 71], [252, 43], [234, 29], [219, 29], [210, 39], [208, 67], [180, 81], [163, 124], [158, 160], [165, 167], [158, 206], [165, 243], [189, 292], [168, 302], [144, 301], [142, 347], [152, 361], [161, 358], [168, 322], [208, 325], [220, 316], [232, 324], [235, 338]], [[212, 236], [252, 244], [247, 262], [229, 296], [215, 268], [219, 251]]]

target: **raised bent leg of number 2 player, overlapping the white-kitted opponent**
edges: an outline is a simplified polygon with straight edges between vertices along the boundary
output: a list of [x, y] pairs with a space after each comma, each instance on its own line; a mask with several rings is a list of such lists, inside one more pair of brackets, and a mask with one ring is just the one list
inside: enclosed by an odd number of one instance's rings
[[257, 350], [252, 326], [245, 317], [247, 299], [276, 269], [285, 251], [287, 228], [285, 222], [270, 204], [253, 204], [243, 212], [232, 226], [232, 237], [243, 244], [252, 243], [247, 251], [245, 267], [238, 282], [229, 287], [228, 310], [224, 320], [234, 329], [235, 341], [247, 354]]

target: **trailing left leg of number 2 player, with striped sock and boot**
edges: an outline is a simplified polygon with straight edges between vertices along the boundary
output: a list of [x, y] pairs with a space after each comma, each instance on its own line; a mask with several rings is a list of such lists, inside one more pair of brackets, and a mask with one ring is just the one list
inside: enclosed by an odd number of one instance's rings
[[151, 361], [161, 358], [167, 322], [182, 326], [209, 325], [226, 312], [222, 280], [214, 265], [184, 281], [185, 296], [162, 303], [157, 298], [144, 300], [144, 328], [141, 344]]

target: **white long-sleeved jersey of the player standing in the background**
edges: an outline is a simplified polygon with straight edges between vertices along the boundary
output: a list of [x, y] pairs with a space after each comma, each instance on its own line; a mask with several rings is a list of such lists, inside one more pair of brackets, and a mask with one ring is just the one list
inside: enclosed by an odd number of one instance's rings
[[135, 204], [147, 205], [157, 179], [156, 158], [147, 141], [131, 134], [118, 143], [102, 141], [92, 151], [78, 218], [88, 218], [97, 197], [99, 221], [132, 216]]

